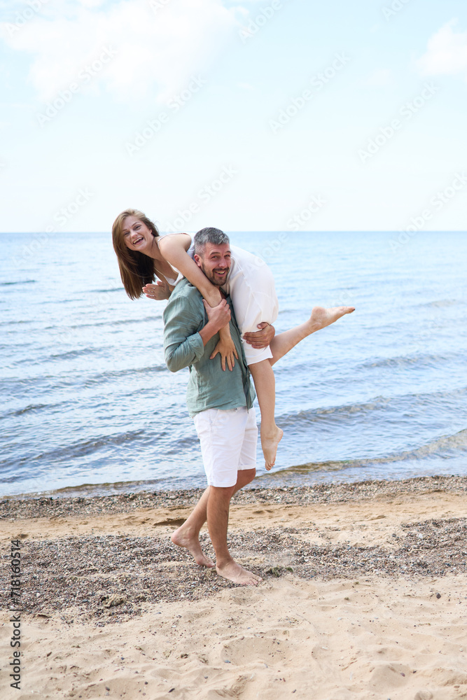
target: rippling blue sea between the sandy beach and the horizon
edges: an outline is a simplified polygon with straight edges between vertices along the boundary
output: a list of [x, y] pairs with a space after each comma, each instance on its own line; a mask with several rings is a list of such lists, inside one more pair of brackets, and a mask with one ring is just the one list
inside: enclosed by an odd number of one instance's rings
[[[467, 474], [467, 235], [230, 232], [270, 265], [276, 332], [356, 307], [274, 366], [277, 462], [252, 486]], [[125, 294], [109, 233], [1, 234], [0, 495], [202, 487], [165, 302]], [[259, 421], [259, 412], [258, 412]], [[221, 458], [221, 455], [220, 455]]]

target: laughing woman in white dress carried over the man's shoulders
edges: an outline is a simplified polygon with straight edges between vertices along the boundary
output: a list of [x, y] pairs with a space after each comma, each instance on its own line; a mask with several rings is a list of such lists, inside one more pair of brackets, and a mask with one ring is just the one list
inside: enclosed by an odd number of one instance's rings
[[[152, 299], [168, 299], [176, 283], [185, 276], [211, 307], [221, 302], [221, 292], [211, 284], [190, 253], [192, 240], [186, 233], [160, 237], [155, 225], [141, 211], [126, 209], [112, 227], [113, 248], [118, 258], [120, 275], [127, 295], [137, 299], [142, 293]], [[255, 383], [261, 412], [260, 437], [265, 467], [270, 470], [276, 460], [277, 445], [283, 432], [274, 420], [275, 380], [272, 365], [300, 340], [324, 328], [337, 318], [354, 311], [353, 307], [323, 309], [315, 307], [309, 321], [270, 340], [270, 345], [252, 346], [256, 328], [274, 323], [278, 303], [274, 279], [263, 260], [242, 248], [230, 246], [232, 263], [223, 288], [230, 293], [237, 323], [244, 336], [246, 363]], [[153, 284], [154, 276], [160, 279]], [[229, 369], [236, 357], [228, 325], [219, 332], [219, 342], [211, 358], [220, 353], [222, 368]]]

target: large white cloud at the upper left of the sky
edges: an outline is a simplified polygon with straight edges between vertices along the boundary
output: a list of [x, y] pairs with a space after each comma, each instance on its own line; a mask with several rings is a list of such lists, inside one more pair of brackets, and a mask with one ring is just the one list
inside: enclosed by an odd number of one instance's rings
[[[237, 8], [236, 8], [237, 9]], [[116, 51], [90, 87], [132, 102], [166, 100], [235, 37], [236, 9], [221, 0], [62, 0], [43, 4], [17, 29], [0, 25], [13, 49], [32, 55], [29, 81], [48, 102], [105, 48]]]

